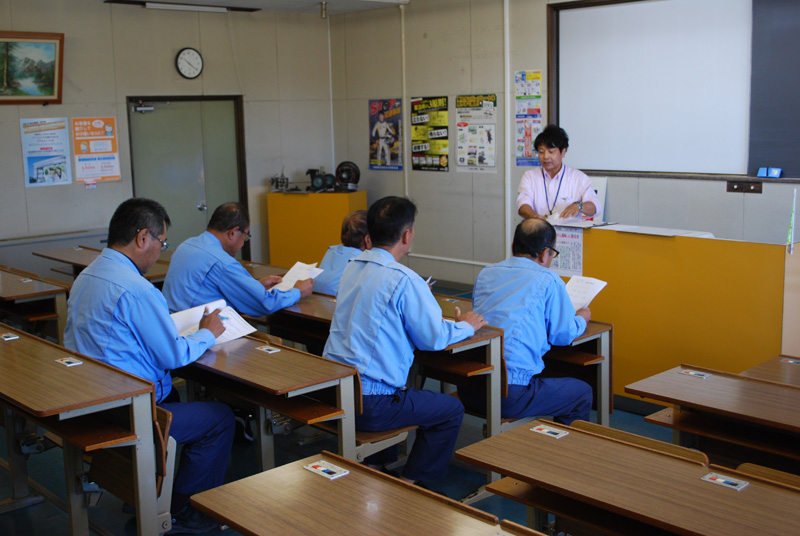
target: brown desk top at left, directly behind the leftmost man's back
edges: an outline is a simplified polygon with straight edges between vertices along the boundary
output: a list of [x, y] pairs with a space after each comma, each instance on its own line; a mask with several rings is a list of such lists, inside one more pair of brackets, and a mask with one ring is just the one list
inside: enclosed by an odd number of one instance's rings
[[[0, 398], [37, 417], [153, 392], [153, 384], [0, 324], [19, 339], [0, 340]], [[56, 359], [75, 357], [67, 367]]]

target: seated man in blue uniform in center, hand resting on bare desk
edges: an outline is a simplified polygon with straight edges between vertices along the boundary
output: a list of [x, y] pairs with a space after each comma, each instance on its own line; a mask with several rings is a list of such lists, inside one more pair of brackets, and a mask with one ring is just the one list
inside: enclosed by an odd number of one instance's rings
[[[361, 374], [364, 411], [356, 416], [357, 429], [419, 426], [402, 475], [408, 482], [447, 474], [464, 416], [464, 406], [452, 396], [405, 388], [414, 349], [441, 350], [486, 325], [479, 314], [460, 310], [455, 323], [443, 320], [425, 281], [400, 264], [414, 241], [416, 213], [414, 203], [401, 197], [379, 199], [369, 208], [372, 249], [344, 269], [323, 353]], [[381, 454], [367, 463], [386, 461], [389, 456]]]

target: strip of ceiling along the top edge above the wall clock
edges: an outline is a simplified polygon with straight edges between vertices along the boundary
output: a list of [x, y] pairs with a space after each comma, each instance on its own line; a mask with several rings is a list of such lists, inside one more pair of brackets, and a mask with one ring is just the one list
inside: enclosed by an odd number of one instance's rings
[[[101, 0], [107, 3], [140, 4], [144, 0]], [[243, 11], [277, 11], [283, 13], [320, 13], [321, 0], [152, 0], [158, 3], [183, 4], [194, 6], [227, 7]], [[327, 0], [329, 15], [340, 15], [354, 11], [366, 11], [400, 4], [410, 0]]]

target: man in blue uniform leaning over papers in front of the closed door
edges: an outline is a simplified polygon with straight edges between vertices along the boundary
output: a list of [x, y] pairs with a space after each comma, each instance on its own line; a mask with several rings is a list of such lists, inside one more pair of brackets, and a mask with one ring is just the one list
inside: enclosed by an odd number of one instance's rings
[[164, 297], [169, 310], [183, 311], [224, 299], [238, 312], [264, 316], [297, 303], [311, 294], [314, 280], [298, 281], [293, 289], [271, 290], [280, 276], [255, 279], [236, 260], [250, 240], [250, 215], [241, 203], [217, 207], [206, 231], [183, 242], [169, 263]]

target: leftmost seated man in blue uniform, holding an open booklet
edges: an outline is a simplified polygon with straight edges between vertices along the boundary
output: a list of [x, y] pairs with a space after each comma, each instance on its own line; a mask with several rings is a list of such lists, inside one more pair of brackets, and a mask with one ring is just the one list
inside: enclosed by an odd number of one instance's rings
[[117, 208], [108, 248], [72, 285], [64, 345], [155, 384], [156, 402], [172, 412], [170, 435], [183, 444], [169, 534], [198, 534], [217, 523], [191, 507], [189, 497], [223, 483], [234, 418], [218, 402], [181, 403], [172, 388], [170, 370], [195, 361], [225, 327], [213, 311], [197, 333], [181, 337], [164, 296], [142, 276], [167, 248], [169, 223], [164, 207], [151, 199], [128, 199]]

